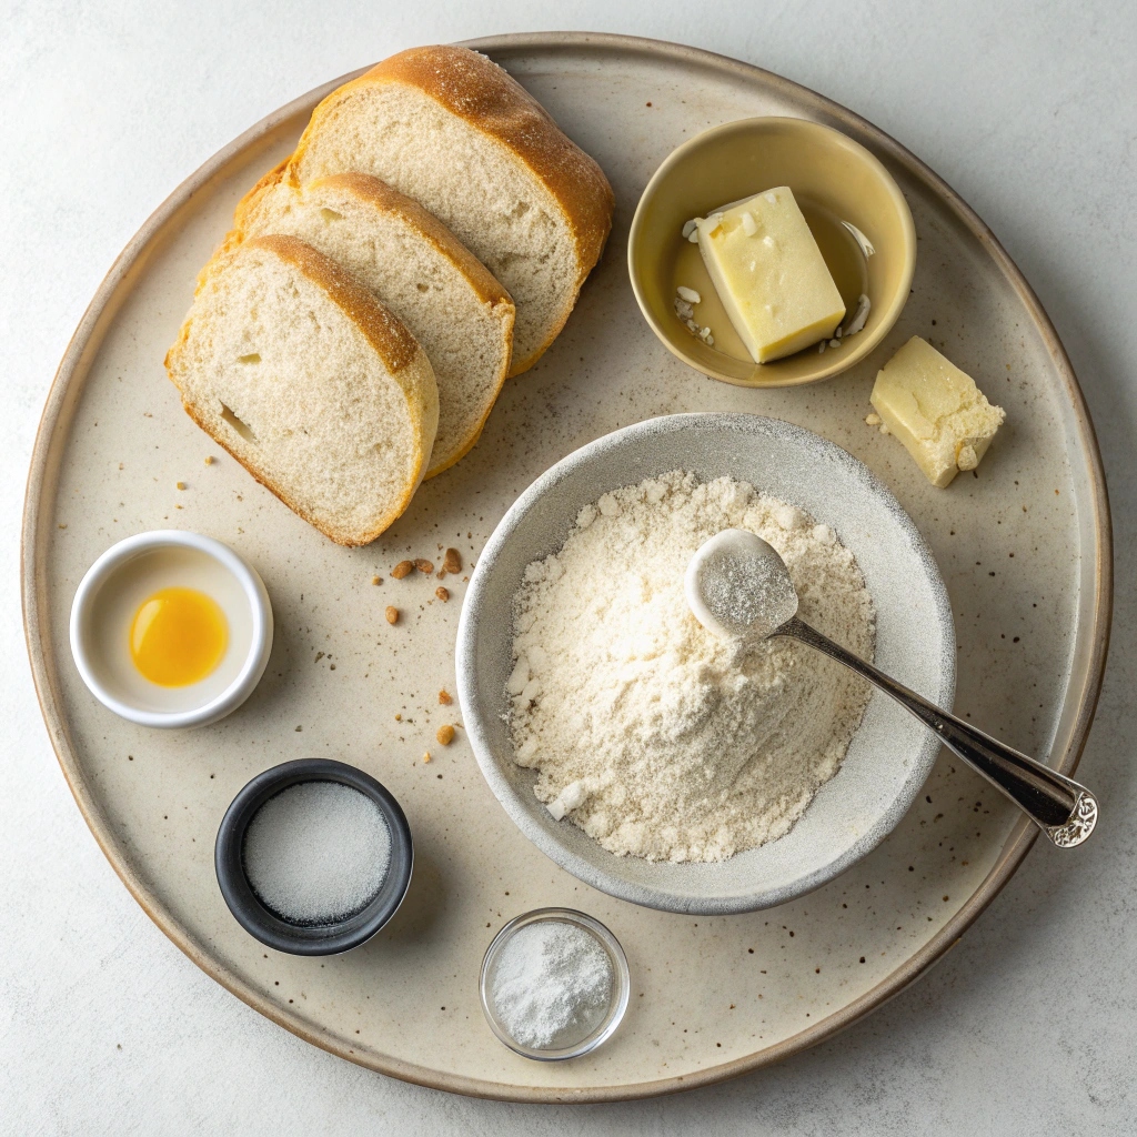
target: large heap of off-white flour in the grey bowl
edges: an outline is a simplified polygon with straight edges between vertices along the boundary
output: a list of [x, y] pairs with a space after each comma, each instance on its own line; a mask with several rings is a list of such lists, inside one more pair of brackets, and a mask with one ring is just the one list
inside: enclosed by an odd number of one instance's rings
[[872, 659], [853, 555], [803, 511], [673, 471], [586, 506], [514, 597], [514, 758], [539, 800], [613, 853], [722, 861], [789, 831], [837, 773], [869, 686], [789, 639], [747, 648], [687, 605], [695, 550], [747, 529], [786, 562], [798, 614]]

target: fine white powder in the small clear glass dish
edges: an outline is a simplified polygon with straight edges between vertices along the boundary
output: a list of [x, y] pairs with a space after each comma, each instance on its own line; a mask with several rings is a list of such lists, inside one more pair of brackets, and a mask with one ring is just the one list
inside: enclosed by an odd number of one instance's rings
[[532, 1049], [559, 1049], [604, 1021], [612, 961], [591, 932], [541, 920], [506, 941], [491, 987], [493, 1010], [511, 1038]]

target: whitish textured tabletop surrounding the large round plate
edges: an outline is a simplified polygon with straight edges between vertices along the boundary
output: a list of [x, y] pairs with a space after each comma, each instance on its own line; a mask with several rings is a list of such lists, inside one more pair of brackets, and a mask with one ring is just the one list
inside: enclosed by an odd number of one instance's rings
[[[554, 10], [555, 9], [555, 10]], [[450, 1097], [349, 1065], [207, 979], [130, 898], [43, 730], [19, 612], [48, 385], [113, 259], [234, 135], [401, 48], [513, 31], [709, 48], [877, 123], [971, 202], [1089, 399], [1117, 537], [1081, 777], [1104, 820], [1036, 846], [947, 958], [839, 1038], [684, 1096]], [[0, 2], [0, 1132], [980, 1135], [1137, 1131], [1137, 5], [1134, 0]]]

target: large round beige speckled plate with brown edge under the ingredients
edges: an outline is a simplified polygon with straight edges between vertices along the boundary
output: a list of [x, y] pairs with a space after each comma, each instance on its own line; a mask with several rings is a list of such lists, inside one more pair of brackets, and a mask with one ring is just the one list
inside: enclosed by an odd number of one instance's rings
[[[511, 380], [481, 442], [426, 483], [375, 545], [342, 549], [294, 517], [192, 425], [161, 360], [193, 279], [244, 190], [288, 153], [314, 91], [190, 177], [100, 287], [44, 410], [24, 522], [24, 612], [36, 688], [75, 798], [123, 881], [163, 930], [235, 995], [312, 1043], [441, 1089], [522, 1101], [601, 1101], [705, 1085], [774, 1062], [878, 1006], [938, 958], [1026, 855], [1034, 830], [941, 756], [901, 824], [847, 873], [778, 908], [686, 916], [594, 891], [506, 815], [438, 691], [455, 690], [463, 597], [449, 578], [393, 581], [407, 555], [479, 554], [517, 495], [554, 462], [620, 426], [684, 410], [749, 412], [824, 435], [896, 495], [935, 553], [957, 636], [956, 708], [1069, 772], [1101, 683], [1110, 526], [1093, 428], [1037, 299], [982, 223], [911, 153], [819, 96], [689, 48], [599, 35], [480, 41], [604, 166], [615, 227], [548, 355]], [[340, 82], [339, 80], [335, 81]], [[897, 179], [920, 239], [913, 292], [887, 341], [839, 379], [746, 390], [663, 348], [628, 282], [628, 225], [652, 172], [691, 134], [750, 115], [847, 132]], [[978, 478], [923, 481], [895, 439], [864, 425], [875, 370], [913, 333], [1007, 410]], [[207, 455], [214, 465], [205, 466]], [[175, 482], [186, 483], [184, 491]], [[196, 529], [264, 578], [276, 634], [265, 678], [232, 716], [191, 732], [119, 721], [67, 648], [83, 572], [127, 533]], [[379, 587], [374, 574], [384, 576]], [[396, 626], [382, 617], [396, 604]], [[396, 720], [400, 715], [401, 720]], [[430, 749], [432, 761], [423, 764]], [[325, 961], [247, 936], [213, 872], [217, 825], [257, 772], [293, 757], [355, 763], [398, 797], [415, 877], [396, 919]], [[1077, 854], [1069, 854], [1077, 855]], [[587, 1057], [529, 1062], [500, 1046], [478, 1002], [495, 932], [528, 908], [581, 908], [628, 954], [620, 1030]]]

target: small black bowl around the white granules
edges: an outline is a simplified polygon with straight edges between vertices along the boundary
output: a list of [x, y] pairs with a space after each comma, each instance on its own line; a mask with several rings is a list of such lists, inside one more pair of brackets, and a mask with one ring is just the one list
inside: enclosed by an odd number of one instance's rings
[[[339, 782], [366, 794], [391, 831], [391, 862], [375, 896], [348, 919], [318, 926], [291, 923], [267, 908], [249, 885], [243, 860], [244, 833], [257, 810], [290, 786], [310, 781]], [[238, 923], [262, 944], [291, 955], [339, 955], [365, 944], [402, 903], [413, 864], [410, 827], [399, 803], [370, 774], [331, 758], [299, 758], [257, 774], [225, 812], [214, 849], [217, 883]]]

